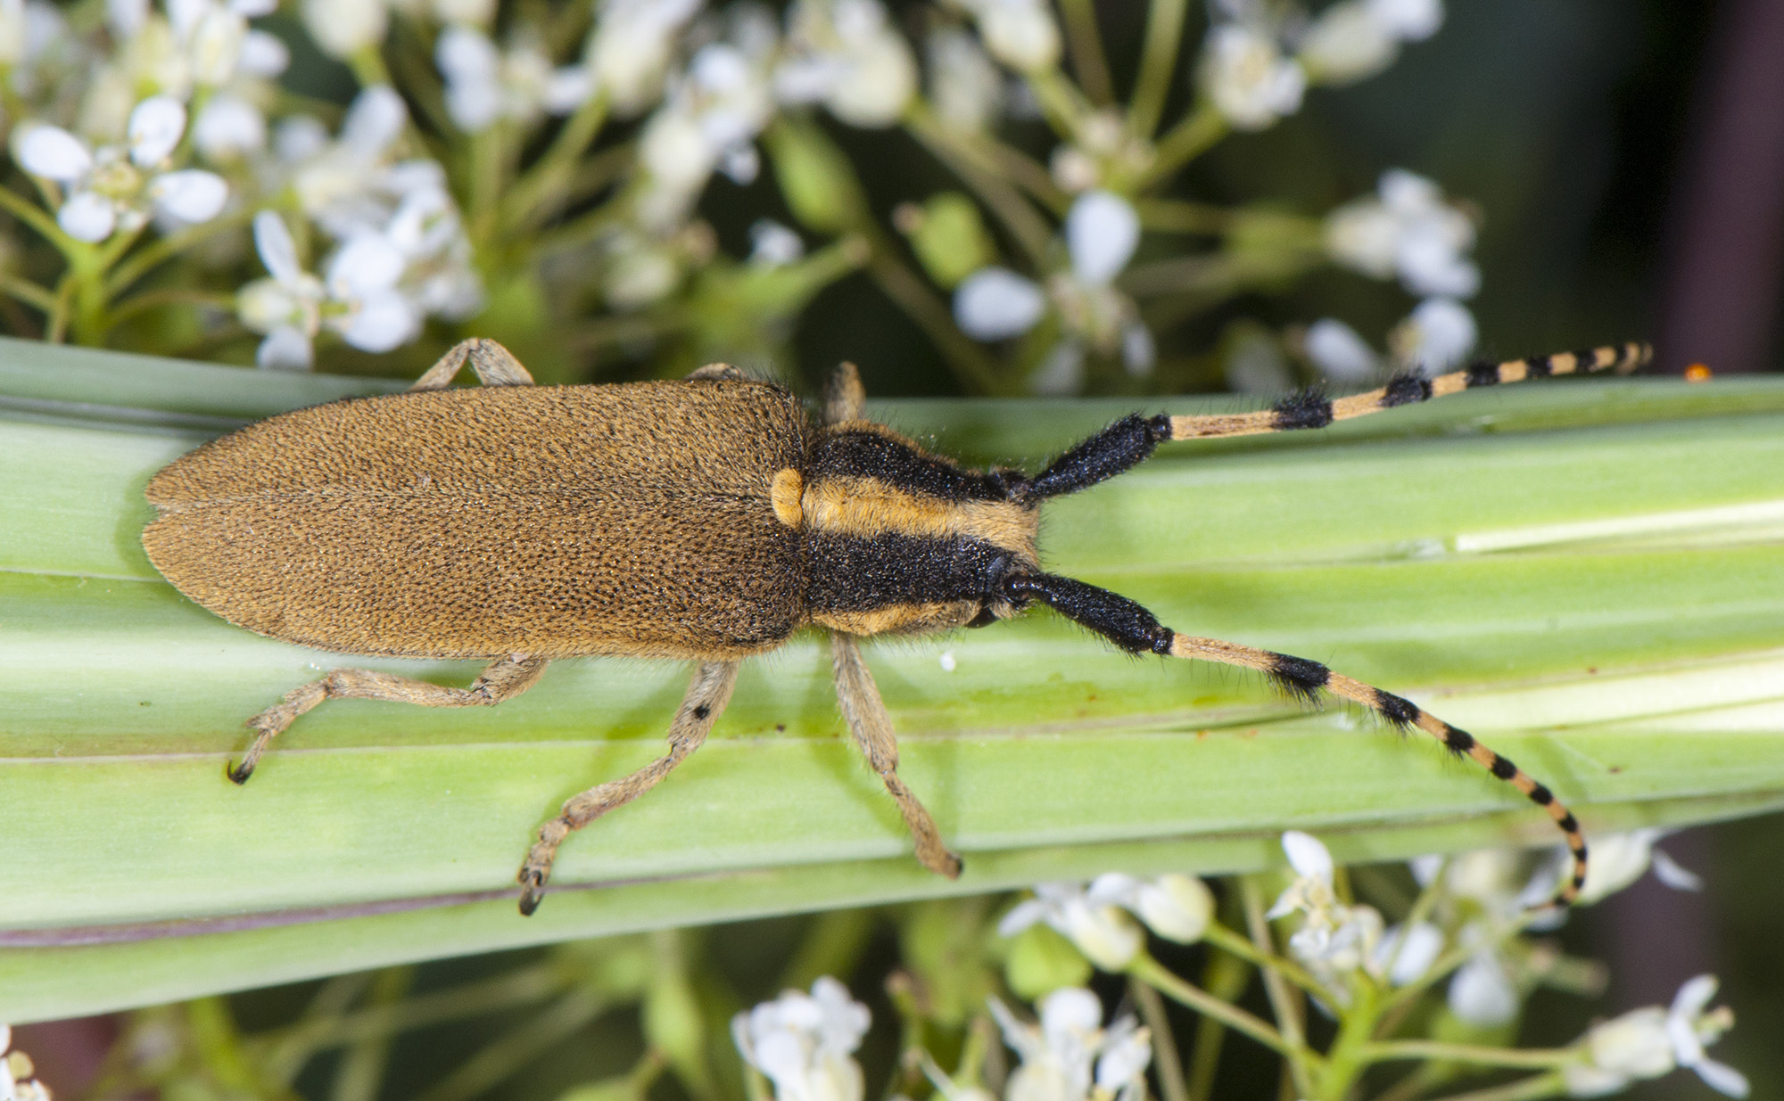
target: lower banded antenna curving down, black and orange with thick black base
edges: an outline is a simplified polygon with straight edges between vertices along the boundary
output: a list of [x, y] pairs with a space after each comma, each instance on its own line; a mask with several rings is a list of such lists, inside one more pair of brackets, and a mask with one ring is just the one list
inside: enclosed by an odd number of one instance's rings
[[1017, 606], [1028, 604], [1029, 600], [1040, 600], [1060, 615], [1095, 631], [1129, 654], [1163, 654], [1167, 657], [1218, 661], [1222, 665], [1258, 670], [1301, 700], [1311, 702], [1320, 689], [1326, 689], [1334, 697], [1368, 707], [1402, 730], [1408, 727], [1418, 727], [1425, 734], [1436, 738], [1438, 743], [1441, 743], [1449, 752], [1472, 757], [1477, 764], [1493, 773], [1493, 777], [1522, 791], [1525, 798], [1541, 807], [1549, 818], [1554, 820], [1554, 823], [1561, 828], [1561, 834], [1566, 837], [1568, 850], [1573, 853], [1573, 878], [1556, 893], [1554, 901], [1556, 905], [1565, 907], [1579, 896], [1579, 889], [1586, 882], [1586, 837], [1581, 834], [1579, 821], [1573, 814], [1547, 786], [1538, 784], [1529, 773], [1513, 764], [1509, 759], [1500, 757], [1493, 750], [1481, 745], [1481, 741], [1466, 730], [1449, 725], [1418, 704], [1402, 700], [1397, 695], [1381, 691], [1379, 688], [1372, 688], [1361, 681], [1352, 681], [1342, 673], [1334, 673], [1318, 661], [1276, 654], [1272, 650], [1260, 650], [1256, 647], [1243, 647], [1238, 643], [1220, 641], [1217, 638], [1177, 634], [1176, 631], [1160, 625], [1158, 618], [1152, 616], [1151, 611], [1135, 604], [1127, 597], [1101, 590], [1094, 584], [1085, 584], [1083, 581], [1074, 581], [1070, 577], [1056, 577], [1051, 574], [1012, 577], [1004, 583], [1004, 599]]

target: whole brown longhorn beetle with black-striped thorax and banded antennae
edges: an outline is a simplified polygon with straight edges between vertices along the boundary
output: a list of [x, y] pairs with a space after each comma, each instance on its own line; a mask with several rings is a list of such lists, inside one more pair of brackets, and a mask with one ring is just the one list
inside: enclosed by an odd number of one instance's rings
[[[897, 775], [897, 743], [858, 640], [983, 627], [1045, 604], [1131, 654], [1258, 670], [1311, 702], [1322, 689], [1474, 757], [1561, 827], [1586, 878], [1579, 823], [1543, 784], [1416, 704], [1318, 661], [1177, 634], [1117, 593], [1040, 567], [1040, 506], [1113, 477], [1169, 440], [1324, 428], [1472, 387], [1631, 371], [1639, 344], [1424, 378], [1256, 413], [1122, 417], [1040, 474], [967, 470], [862, 419], [837, 372], [814, 424], [781, 387], [726, 365], [681, 381], [533, 387], [500, 344], [466, 340], [407, 394], [335, 401], [250, 424], [148, 483], [148, 558], [182, 593], [260, 634], [346, 654], [482, 657], [471, 688], [355, 668], [303, 684], [248, 720], [228, 779], [328, 698], [423, 707], [500, 704], [546, 663], [589, 654], [698, 661], [669, 752], [573, 796], [521, 864], [539, 905], [571, 834], [655, 787], [731, 697], [744, 657], [808, 624], [830, 631], [837, 698], [897, 802], [917, 859], [949, 878], [960, 857]], [[480, 388], [450, 388], [469, 362]]]

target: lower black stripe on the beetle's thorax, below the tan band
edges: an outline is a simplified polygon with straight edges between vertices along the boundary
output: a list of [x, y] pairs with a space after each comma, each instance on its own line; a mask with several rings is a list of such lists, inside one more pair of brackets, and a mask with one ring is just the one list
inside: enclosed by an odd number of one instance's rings
[[979, 540], [814, 531], [806, 606], [824, 613], [979, 600], [997, 593], [1008, 568], [1010, 552]]

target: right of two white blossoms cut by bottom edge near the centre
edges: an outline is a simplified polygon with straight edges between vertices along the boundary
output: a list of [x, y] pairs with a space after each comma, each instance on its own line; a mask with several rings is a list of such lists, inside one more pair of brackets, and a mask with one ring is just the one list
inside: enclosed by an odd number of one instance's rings
[[1103, 1028], [1103, 1003], [1081, 987], [1040, 999], [1040, 1021], [1026, 1024], [988, 999], [1004, 1042], [1022, 1056], [1004, 1101], [1136, 1101], [1145, 1092], [1152, 1037], [1133, 1017]]

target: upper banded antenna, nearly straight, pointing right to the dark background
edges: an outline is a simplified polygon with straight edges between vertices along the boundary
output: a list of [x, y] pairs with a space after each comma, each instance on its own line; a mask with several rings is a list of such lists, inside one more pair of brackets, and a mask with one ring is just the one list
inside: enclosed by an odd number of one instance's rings
[[1623, 344], [1618, 347], [1595, 347], [1591, 351], [1565, 351], [1531, 360], [1507, 360], [1504, 363], [1481, 362], [1466, 371], [1452, 371], [1450, 374], [1429, 379], [1422, 374], [1408, 372], [1393, 376], [1386, 387], [1367, 394], [1352, 394], [1350, 397], [1333, 401], [1308, 390], [1284, 397], [1272, 408], [1256, 413], [1220, 413], [1211, 417], [1142, 417], [1135, 413], [1122, 417], [1078, 447], [1072, 447], [1015, 492], [1024, 501], [1044, 501], [1047, 497], [1076, 493], [1145, 461], [1160, 444], [1170, 440], [1206, 440], [1211, 436], [1249, 436], [1299, 428], [1326, 428], [1333, 420], [1383, 413], [1402, 404], [1459, 394], [1474, 387], [1520, 383], [1531, 378], [1584, 371], [1634, 371], [1641, 363], [1647, 363], [1650, 355], [1647, 344]]

